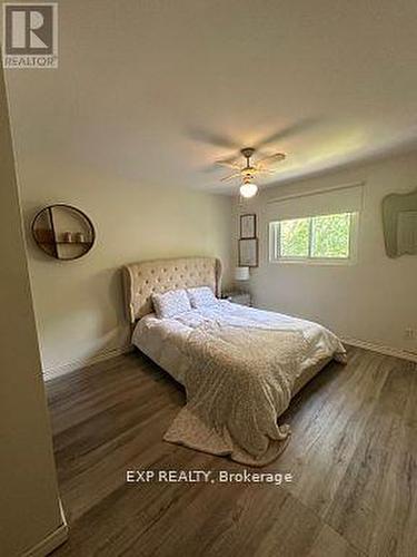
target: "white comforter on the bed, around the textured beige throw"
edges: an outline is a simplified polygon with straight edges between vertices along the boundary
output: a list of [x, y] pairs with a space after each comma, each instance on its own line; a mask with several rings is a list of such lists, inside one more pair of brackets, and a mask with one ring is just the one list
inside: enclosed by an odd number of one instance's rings
[[180, 346], [187, 342], [192, 330], [207, 323], [301, 332], [308, 350], [295, 372], [292, 394], [312, 379], [335, 353], [340, 356], [342, 350], [338, 339], [317, 323], [234, 304], [226, 300], [219, 300], [214, 305], [195, 309], [171, 319], [158, 319], [155, 313], [150, 313], [137, 323], [132, 344], [185, 385], [190, 361]]

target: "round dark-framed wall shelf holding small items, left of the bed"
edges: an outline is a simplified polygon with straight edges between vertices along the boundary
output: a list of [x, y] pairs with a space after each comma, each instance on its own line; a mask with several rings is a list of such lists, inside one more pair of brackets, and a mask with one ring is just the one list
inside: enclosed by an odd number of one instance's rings
[[49, 256], [72, 261], [82, 257], [91, 250], [96, 231], [82, 211], [58, 203], [36, 214], [32, 236], [37, 245]]

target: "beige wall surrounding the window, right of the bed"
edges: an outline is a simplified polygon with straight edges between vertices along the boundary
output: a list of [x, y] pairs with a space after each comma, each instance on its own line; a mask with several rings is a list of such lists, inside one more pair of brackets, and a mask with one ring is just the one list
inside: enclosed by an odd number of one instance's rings
[[[237, 215], [255, 211], [259, 219], [260, 265], [251, 272], [255, 302], [282, 313], [318, 321], [337, 333], [417, 353], [417, 257], [387, 257], [380, 204], [393, 192], [417, 186], [417, 154], [393, 157], [308, 180], [265, 189], [251, 203], [235, 202]], [[266, 205], [270, 198], [365, 180], [358, 262], [351, 266], [277, 264], [268, 262]], [[417, 333], [416, 333], [417, 334]]]

